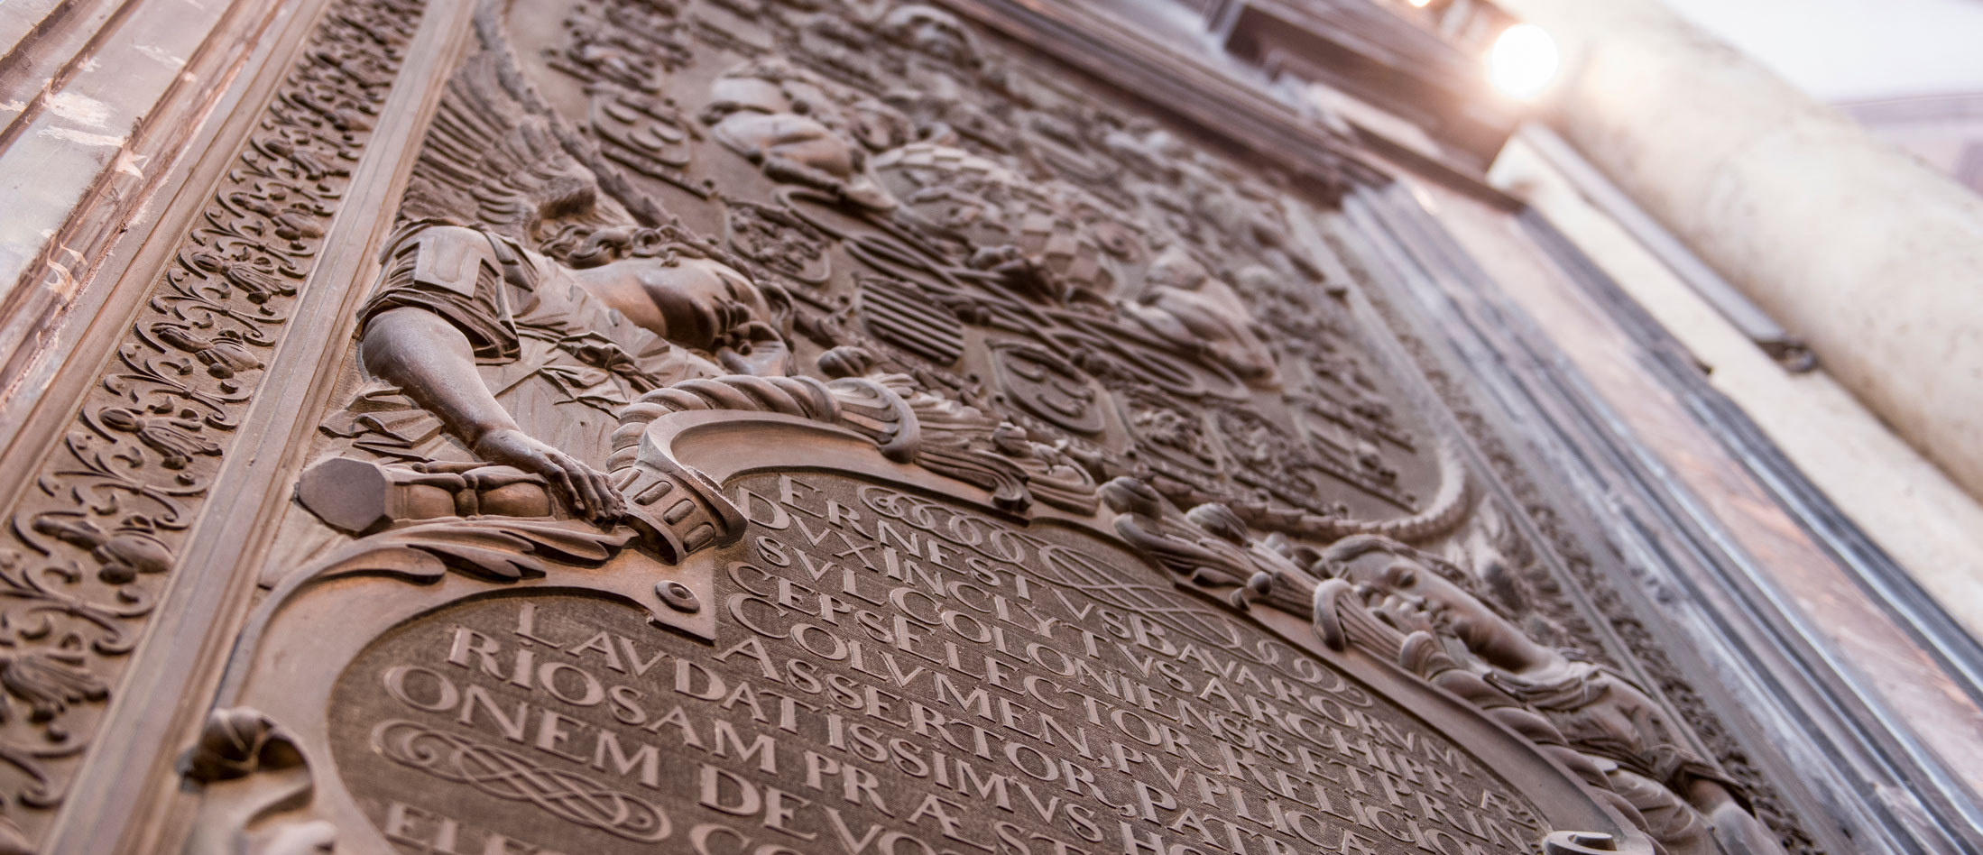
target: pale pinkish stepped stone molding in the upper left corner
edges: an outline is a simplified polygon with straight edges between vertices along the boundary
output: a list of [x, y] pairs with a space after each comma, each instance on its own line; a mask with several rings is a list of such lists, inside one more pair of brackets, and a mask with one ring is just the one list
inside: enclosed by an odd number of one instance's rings
[[212, 141], [232, 139], [218, 129], [234, 123], [234, 107], [260, 103], [252, 89], [266, 87], [250, 79], [268, 65], [278, 42], [270, 36], [313, 8], [63, 2], [0, 58], [0, 175], [8, 177], [0, 436], [8, 442], [54, 432], [28, 427], [40, 393], [67, 383], [71, 355], [103, 353], [83, 341], [105, 315], [135, 311], [121, 298], [139, 288], [113, 284], [155, 232], [178, 230], [161, 214], [178, 192], [206, 190], [200, 181], [186, 184], [194, 163]]

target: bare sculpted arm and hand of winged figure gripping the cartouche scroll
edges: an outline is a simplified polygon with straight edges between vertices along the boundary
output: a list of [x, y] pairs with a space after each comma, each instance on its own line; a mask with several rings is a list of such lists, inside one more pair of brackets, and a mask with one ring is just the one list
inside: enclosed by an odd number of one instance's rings
[[482, 383], [468, 337], [446, 319], [418, 307], [381, 311], [365, 323], [359, 359], [440, 419], [476, 456], [543, 476], [581, 516], [621, 516], [619, 490], [605, 474], [516, 425]]

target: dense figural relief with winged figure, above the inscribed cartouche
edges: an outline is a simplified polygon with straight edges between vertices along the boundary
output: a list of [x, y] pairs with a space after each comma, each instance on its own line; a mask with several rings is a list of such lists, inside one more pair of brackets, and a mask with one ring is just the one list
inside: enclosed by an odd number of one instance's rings
[[353, 387], [333, 444], [480, 458], [611, 518], [605, 421], [575, 409], [738, 371], [896, 377], [954, 411], [924, 425], [932, 460], [1021, 506], [1031, 468], [1313, 534], [1459, 520], [1465, 476], [1386, 403], [1273, 186], [934, 8], [754, 8], [571, 6], [539, 40], [486, 16], [363, 313], [357, 369], [383, 383]]

